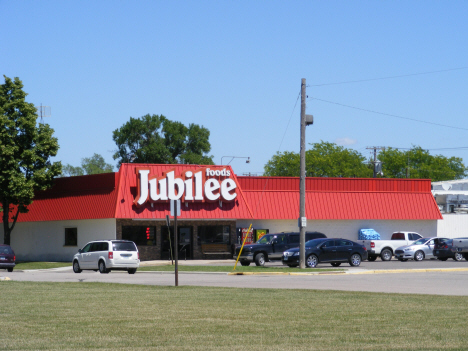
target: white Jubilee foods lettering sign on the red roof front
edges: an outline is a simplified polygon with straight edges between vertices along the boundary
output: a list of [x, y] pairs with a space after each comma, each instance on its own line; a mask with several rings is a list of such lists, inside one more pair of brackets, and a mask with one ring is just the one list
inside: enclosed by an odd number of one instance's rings
[[138, 167], [138, 193], [133, 201], [136, 206], [146, 202], [165, 202], [168, 200], [188, 201], [233, 201], [237, 197], [237, 183], [229, 178], [231, 171], [223, 169], [201, 168], [196, 171], [183, 171], [176, 176], [174, 170], [164, 172], [162, 176], [150, 175], [149, 168]]

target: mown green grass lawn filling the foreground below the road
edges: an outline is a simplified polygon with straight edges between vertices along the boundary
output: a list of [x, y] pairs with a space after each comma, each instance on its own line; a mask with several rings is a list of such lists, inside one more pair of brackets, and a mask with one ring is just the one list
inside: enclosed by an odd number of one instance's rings
[[466, 350], [468, 297], [0, 281], [0, 350]]

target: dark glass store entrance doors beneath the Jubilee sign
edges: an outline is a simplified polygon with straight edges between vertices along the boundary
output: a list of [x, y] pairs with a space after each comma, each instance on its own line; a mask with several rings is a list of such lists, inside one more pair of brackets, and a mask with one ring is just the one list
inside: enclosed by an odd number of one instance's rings
[[[161, 259], [174, 259], [174, 228], [161, 227]], [[170, 232], [170, 235], [169, 235]], [[193, 258], [192, 227], [177, 227], [179, 241], [179, 260], [191, 260]]]

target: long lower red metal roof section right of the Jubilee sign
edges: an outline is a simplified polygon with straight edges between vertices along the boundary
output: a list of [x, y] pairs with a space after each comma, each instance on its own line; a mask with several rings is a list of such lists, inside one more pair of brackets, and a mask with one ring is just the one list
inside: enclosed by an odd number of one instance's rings
[[[238, 177], [255, 219], [297, 219], [299, 178]], [[306, 178], [311, 220], [442, 219], [430, 179]]]

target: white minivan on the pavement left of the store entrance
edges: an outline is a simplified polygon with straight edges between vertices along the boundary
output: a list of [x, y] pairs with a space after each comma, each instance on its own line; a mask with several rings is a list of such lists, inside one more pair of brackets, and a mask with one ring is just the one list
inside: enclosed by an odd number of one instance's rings
[[73, 257], [73, 271], [85, 269], [109, 273], [111, 270], [134, 274], [140, 266], [140, 254], [133, 241], [97, 240], [87, 243]]

